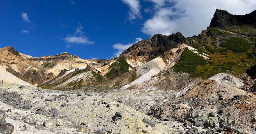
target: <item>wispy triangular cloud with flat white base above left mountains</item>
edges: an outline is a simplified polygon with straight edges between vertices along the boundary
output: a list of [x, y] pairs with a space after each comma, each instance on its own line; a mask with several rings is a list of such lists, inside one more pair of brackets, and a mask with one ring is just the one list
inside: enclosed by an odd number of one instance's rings
[[[89, 39], [84, 36], [84, 32], [82, 31], [84, 28], [82, 24], [79, 22], [79, 26], [77, 26], [76, 31], [72, 35], [67, 35], [64, 40], [66, 43], [74, 43], [74, 44], [94, 44], [94, 42], [89, 41]], [[66, 46], [67, 47], [67, 46]], [[69, 48], [68, 46], [67, 48]]]

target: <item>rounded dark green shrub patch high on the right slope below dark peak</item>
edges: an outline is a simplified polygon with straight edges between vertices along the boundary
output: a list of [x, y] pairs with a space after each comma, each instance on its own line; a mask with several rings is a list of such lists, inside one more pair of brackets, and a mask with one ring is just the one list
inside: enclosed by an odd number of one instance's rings
[[250, 43], [240, 37], [232, 37], [230, 39], [224, 39], [220, 46], [232, 50], [235, 53], [241, 53], [250, 50]]

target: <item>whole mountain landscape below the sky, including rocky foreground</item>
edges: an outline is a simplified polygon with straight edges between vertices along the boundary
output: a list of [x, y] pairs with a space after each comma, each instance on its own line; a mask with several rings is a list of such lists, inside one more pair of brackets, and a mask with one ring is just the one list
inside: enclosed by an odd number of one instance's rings
[[216, 10], [197, 36], [156, 34], [110, 60], [0, 48], [0, 119], [17, 133], [256, 133], [255, 13]]

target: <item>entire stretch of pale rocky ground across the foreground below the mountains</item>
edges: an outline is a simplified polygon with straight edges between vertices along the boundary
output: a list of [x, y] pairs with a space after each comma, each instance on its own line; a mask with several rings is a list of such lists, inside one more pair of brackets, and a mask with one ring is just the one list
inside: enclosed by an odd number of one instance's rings
[[189, 80], [188, 74], [174, 74], [187, 80], [173, 85], [177, 82], [168, 82], [168, 77], [161, 84], [177, 88], [158, 89], [157, 80], [165, 79], [164, 75], [138, 87], [104, 93], [0, 83], [0, 132], [256, 133], [256, 97], [251, 90], [243, 90], [253, 89], [255, 80], [222, 73], [206, 80]]

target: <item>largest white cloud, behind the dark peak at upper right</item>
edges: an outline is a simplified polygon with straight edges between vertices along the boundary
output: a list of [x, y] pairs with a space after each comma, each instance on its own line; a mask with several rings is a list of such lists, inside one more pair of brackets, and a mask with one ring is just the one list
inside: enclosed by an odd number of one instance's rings
[[144, 22], [141, 31], [147, 35], [181, 32], [185, 37], [198, 35], [211, 22], [216, 9], [244, 15], [255, 10], [252, 0], [145, 0], [153, 3], [155, 13]]

